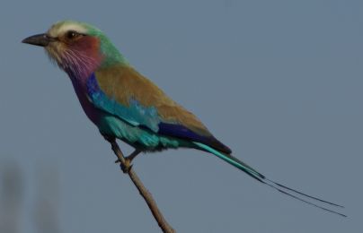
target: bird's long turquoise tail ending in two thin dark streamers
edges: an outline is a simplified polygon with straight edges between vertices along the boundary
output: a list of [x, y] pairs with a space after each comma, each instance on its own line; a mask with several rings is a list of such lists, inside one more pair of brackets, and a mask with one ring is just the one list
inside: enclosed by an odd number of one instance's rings
[[[194, 142], [194, 144], [197, 145], [199, 150], [207, 151], [209, 153], [212, 153], [212, 154], [216, 155], [218, 158], [220, 158], [222, 160], [225, 160], [227, 163], [235, 166], [235, 168], [239, 168], [239, 169], [243, 170], [250, 177], [260, 181], [264, 185], [270, 186], [271, 188], [279, 191], [282, 194], [287, 194], [288, 196], [290, 196], [290, 197], [292, 197], [294, 199], [297, 199], [298, 201], [313, 205], [314, 207], [322, 209], [323, 211], [329, 211], [329, 212], [338, 214], [338, 215], [340, 215], [342, 217], [347, 217], [345, 214], [342, 214], [341, 212], [332, 211], [332, 210], [330, 210], [328, 208], [325, 208], [322, 205], [316, 204], [314, 202], [323, 203], [323, 204], [327, 204], [327, 205], [334, 206], [334, 207], [344, 208], [340, 204], [327, 202], [327, 201], [324, 201], [321, 198], [317, 198], [317, 197], [314, 197], [314, 196], [309, 195], [309, 194], [304, 194], [304, 193], [302, 193], [300, 191], [297, 191], [296, 189], [290, 188], [288, 186], [281, 185], [278, 182], [272, 181], [269, 178], [263, 176], [260, 172], [258, 172], [254, 168], [251, 168], [249, 165], [247, 165], [243, 161], [236, 159], [232, 155], [217, 151], [217, 150], [215, 150], [215, 149], [213, 149], [213, 148], [211, 148], [208, 145], [205, 145], [203, 143]], [[307, 200], [305, 200], [305, 199], [307, 199]]]

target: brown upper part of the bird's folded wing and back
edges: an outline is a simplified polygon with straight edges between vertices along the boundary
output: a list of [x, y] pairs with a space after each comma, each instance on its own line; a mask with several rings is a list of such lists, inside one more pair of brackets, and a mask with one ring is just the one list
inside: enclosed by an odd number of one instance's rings
[[[231, 152], [223, 143], [217, 141], [197, 116], [170, 99], [164, 91], [131, 66], [115, 65], [102, 68], [95, 74], [101, 90], [108, 98], [115, 99], [126, 107], [129, 106], [131, 99], [136, 99], [139, 104], [146, 108], [156, 108], [158, 115], [163, 119], [163, 123], [182, 125], [186, 128], [184, 131], [190, 130], [191, 133], [208, 139], [203, 140], [203, 143], [207, 143], [219, 151]], [[175, 135], [182, 137], [180, 134]], [[190, 139], [195, 140], [195, 138]]]

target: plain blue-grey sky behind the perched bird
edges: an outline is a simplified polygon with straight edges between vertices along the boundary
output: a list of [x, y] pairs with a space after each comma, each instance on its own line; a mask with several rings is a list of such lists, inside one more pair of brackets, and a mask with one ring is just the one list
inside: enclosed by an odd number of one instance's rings
[[362, 15], [358, 0], [3, 1], [0, 168], [21, 174], [19, 232], [41, 232], [43, 209], [59, 232], [159, 232], [66, 73], [20, 43], [63, 19], [102, 29], [236, 157], [349, 215], [299, 203], [201, 151], [137, 157], [178, 232], [361, 232]]

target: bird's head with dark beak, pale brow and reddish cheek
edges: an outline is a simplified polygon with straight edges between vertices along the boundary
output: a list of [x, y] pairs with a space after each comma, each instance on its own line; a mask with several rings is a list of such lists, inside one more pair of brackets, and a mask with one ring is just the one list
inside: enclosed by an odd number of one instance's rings
[[84, 22], [57, 22], [46, 33], [22, 42], [44, 47], [51, 60], [75, 78], [88, 76], [100, 66], [127, 63], [101, 30]]

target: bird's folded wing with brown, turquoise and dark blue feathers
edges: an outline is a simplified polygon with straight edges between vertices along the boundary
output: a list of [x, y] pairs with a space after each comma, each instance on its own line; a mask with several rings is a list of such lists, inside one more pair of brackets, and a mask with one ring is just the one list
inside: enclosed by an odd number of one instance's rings
[[87, 80], [87, 92], [96, 108], [119, 116], [130, 125], [144, 127], [157, 134], [202, 142], [218, 151], [231, 153], [196, 116], [128, 65], [112, 65], [97, 70]]

